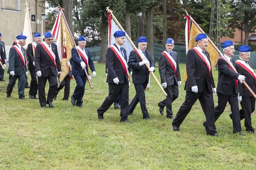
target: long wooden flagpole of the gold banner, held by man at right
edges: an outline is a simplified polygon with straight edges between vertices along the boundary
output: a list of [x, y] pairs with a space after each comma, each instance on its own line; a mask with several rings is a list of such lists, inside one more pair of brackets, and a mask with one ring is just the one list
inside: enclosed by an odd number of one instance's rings
[[[187, 13], [187, 11], [186, 11], [186, 13]], [[188, 15], [188, 13], [187, 13], [187, 15]], [[190, 16], [190, 15], [188, 15], [189, 16], [189, 18], [190, 18], [190, 20], [196, 25], [196, 27], [202, 32], [202, 33], [204, 33], [205, 34], [205, 32], [201, 29], [201, 27], [196, 23], [196, 21], [194, 21], [194, 19]], [[226, 63], [228, 64], [228, 66], [230, 66], [230, 68], [234, 71], [234, 72], [236, 72], [237, 73], [237, 70], [235, 69], [235, 67], [232, 65], [232, 64], [230, 64], [229, 63], [229, 61], [227, 61], [227, 59], [224, 57], [224, 55], [220, 52], [220, 50], [216, 47], [216, 45], [212, 42], [212, 40], [207, 36], [207, 38], [208, 38], [208, 41], [209, 41], [209, 43], [211, 43], [211, 45], [212, 45], [212, 47], [214, 47], [214, 49], [219, 53], [219, 55], [220, 56], [222, 56], [224, 59], [225, 59], [225, 61], [226, 61]], [[255, 95], [255, 93], [253, 92], [253, 90], [251, 90], [251, 88], [248, 86], [248, 84], [245, 82], [245, 80], [243, 80], [243, 85], [245, 85], [245, 87], [250, 91], [250, 93], [253, 95], [253, 97], [256, 99], [256, 95]]]

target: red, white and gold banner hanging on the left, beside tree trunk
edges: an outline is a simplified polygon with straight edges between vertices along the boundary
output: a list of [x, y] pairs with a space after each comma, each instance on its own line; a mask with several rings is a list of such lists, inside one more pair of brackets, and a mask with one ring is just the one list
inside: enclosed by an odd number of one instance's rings
[[71, 49], [75, 47], [75, 45], [60, 11], [52, 28], [52, 36], [56, 41], [58, 55], [61, 61], [62, 72], [60, 73], [59, 81], [62, 82], [70, 71], [68, 62], [71, 59]]

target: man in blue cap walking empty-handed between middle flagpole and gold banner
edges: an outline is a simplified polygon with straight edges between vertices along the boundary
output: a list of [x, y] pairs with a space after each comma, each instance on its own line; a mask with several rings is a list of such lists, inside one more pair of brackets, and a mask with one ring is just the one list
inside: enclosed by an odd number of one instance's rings
[[174, 119], [172, 112], [172, 102], [178, 98], [179, 86], [181, 84], [180, 68], [178, 55], [174, 48], [174, 40], [168, 38], [165, 43], [166, 50], [161, 53], [159, 63], [159, 74], [161, 77], [162, 87], [167, 93], [166, 99], [158, 103], [160, 114], [164, 115], [164, 106], [166, 106], [166, 118]]

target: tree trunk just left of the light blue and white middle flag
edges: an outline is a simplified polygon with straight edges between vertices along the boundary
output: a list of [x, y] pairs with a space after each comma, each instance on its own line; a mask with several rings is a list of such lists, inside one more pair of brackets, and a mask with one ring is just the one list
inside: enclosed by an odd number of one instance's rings
[[[105, 11], [104, 11], [105, 12]], [[100, 50], [100, 59], [99, 63], [106, 63], [106, 52], [107, 52], [107, 18], [105, 17], [104, 13], [101, 14], [101, 27], [100, 27], [100, 37], [101, 37], [101, 50]]]

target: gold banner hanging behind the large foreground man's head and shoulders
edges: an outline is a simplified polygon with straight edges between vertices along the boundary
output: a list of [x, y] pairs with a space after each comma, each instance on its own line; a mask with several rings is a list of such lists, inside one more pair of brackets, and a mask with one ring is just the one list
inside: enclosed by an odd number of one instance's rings
[[[189, 39], [186, 38], [186, 44], [188, 44], [188, 50], [196, 47], [196, 45], [197, 45], [197, 42], [195, 41], [196, 36], [201, 33], [202, 32], [198, 29], [198, 27], [196, 27], [196, 25], [192, 22]], [[211, 43], [208, 43], [208, 47], [207, 47], [206, 51], [210, 55], [211, 69], [213, 69], [217, 63], [218, 58], [219, 58], [219, 53], [217, 50], [215, 50], [215, 48], [211, 45]], [[185, 67], [184, 79], [183, 79], [184, 82], [186, 82], [187, 78], [188, 78], [188, 75], [187, 75], [186, 67]]]

